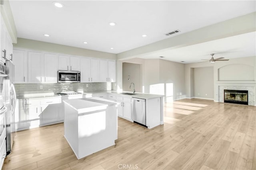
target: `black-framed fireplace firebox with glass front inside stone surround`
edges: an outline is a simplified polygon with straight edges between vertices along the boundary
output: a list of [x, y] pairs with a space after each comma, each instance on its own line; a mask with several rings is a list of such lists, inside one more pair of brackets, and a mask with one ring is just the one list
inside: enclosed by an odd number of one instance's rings
[[224, 90], [224, 102], [248, 105], [248, 90]]

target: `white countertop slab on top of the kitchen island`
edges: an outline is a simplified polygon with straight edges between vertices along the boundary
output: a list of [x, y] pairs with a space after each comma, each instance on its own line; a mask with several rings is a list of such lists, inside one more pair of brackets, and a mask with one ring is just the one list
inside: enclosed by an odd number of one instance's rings
[[64, 103], [78, 111], [78, 113], [87, 113], [96, 110], [106, 109], [108, 106], [115, 105], [116, 102], [102, 98], [81, 98], [63, 100]]

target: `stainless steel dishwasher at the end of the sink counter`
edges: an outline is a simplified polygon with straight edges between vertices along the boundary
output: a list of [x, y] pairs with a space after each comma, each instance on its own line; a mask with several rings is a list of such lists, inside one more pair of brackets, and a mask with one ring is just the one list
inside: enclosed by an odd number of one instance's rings
[[146, 126], [146, 100], [132, 98], [132, 119], [134, 123]]

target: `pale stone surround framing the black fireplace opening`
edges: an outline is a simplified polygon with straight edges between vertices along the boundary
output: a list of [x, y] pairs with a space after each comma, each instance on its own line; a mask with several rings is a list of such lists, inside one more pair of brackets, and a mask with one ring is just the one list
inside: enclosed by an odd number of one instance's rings
[[218, 102], [224, 102], [224, 89], [225, 90], [248, 90], [248, 105], [256, 106], [255, 102], [255, 84], [218, 84]]

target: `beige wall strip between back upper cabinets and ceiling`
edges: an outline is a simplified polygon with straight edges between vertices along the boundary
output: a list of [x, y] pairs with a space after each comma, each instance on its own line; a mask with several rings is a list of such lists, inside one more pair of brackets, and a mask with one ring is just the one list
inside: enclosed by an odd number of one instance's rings
[[101, 51], [94, 51], [89, 49], [82, 49], [77, 47], [70, 47], [66, 45], [47, 43], [43, 41], [35, 41], [31, 39], [18, 38], [17, 44], [13, 44], [15, 48], [25, 48], [38, 51], [48, 51], [53, 53], [61, 53], [68, 55], [78, 55], [84, 57], [95, 57], [100, 59], [112, 59], [116, 60], [116, 54], [105, 53]]

